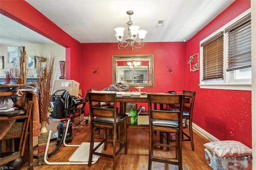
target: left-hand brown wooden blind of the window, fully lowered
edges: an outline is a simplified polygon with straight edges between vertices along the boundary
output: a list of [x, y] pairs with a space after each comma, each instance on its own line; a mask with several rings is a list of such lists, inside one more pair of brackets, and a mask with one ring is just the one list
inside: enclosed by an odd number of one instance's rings
[[202, 81], [218, 80], [224, 78], [223, 71], [223, 32], [216, 34], [202, 47]]

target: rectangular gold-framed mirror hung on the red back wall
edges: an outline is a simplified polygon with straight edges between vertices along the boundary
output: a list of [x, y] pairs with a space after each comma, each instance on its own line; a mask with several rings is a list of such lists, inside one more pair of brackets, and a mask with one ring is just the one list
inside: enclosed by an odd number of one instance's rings
[[113, 84], [154, 87], [154, 55], [113, 55]]

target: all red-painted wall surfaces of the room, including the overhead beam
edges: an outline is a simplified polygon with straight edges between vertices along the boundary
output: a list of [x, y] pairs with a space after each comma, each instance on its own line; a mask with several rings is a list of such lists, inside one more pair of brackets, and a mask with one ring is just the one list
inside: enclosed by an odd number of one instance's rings
[[[252, 147], [251, 91], [200, 89], [199, 71], [190, 72], [187, 64], [190, 55], [199, 53], [201, 40], [249, 8], [250, 0], [236, 0], [186, 43], [145, 43], [131, 51], [119, 50], [117, 43], [80, 44], [24, 0], [0, 0], [1, 14], [66, 47], [66, 79], [80, 82], [84, 95], [88, 89], [112, 84], [112, 55], [153, 54], [154, 88], [142, 91], [196, 91], [193, 122], [219, 140], [238, 140]], [[170, 75], [168, 65], [173, 67]], [[93, 74], [94, 67], [99, 67], [99, 75]], [[230, 137], [230, 128], [236, 130], [235, 138]]]

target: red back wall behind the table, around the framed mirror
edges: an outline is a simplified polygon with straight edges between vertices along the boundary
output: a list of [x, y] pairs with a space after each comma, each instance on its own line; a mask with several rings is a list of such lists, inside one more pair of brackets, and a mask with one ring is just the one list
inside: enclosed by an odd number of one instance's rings
[[[129, 48], [120, 50], [117, 43], [83, 43], [81, 61], [81, 82], [80, 87], [83, 94], [88, 89], [104, 89], [113, 84], [112, 56], [113, 55], [154, 55], [154, 87], [144, 88], [146, 92], [167, 92], [170, 90], [182, 91], [186, 88], [186, 43], [166, 42], [166, 43], [145, 43], [141, 49]], [[172, 74], [166, 73], [167, 66], [172, 66]], [[93, 74], [94, 67], [98, 67], [100, 74]], [[130, 88], [130, 91], [137, 89]], [[146, 103], [140, 105], [147, 107]], [[89, 113], [88, 105], [86, 114]]]

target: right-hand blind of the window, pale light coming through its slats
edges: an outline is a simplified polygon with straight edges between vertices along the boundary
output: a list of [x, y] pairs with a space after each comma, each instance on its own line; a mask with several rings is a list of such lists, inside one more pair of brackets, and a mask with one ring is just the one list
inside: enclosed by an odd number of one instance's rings
[[251, 67], [251, 16], [248, 14], [224, 30], [228, 40], [227, 71]]

